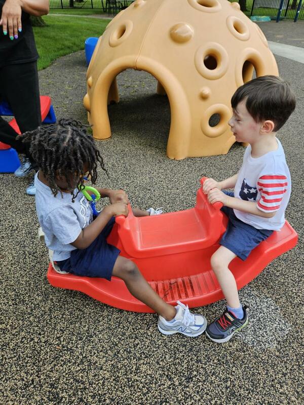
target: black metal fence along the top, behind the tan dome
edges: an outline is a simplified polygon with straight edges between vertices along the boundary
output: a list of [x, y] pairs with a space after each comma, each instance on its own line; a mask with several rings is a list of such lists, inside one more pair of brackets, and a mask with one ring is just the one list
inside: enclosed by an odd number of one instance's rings
[[[50, 9], [101, 9], [116, 14], [133, 0], [50, 0]], [[229, 0], [233, 2], [234, 0]], [[272, 19], [304, 19], [304, 0], [239, 0], [248, 17], [268, 16]]]

